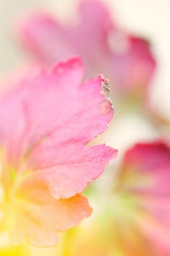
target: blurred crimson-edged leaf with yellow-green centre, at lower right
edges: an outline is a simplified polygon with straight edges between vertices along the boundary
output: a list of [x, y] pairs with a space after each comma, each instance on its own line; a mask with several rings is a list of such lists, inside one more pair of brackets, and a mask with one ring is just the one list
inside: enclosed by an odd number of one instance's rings
[[66, 255], [169, 256], [169, 177], [170, 148], [163, 141], [129, 149], [96, 219], [68, 232]]

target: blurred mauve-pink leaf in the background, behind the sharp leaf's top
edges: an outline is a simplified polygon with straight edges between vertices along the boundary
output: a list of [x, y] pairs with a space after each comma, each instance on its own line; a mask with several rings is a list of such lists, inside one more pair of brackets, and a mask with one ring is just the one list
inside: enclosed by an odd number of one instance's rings
[[142, 97], [156, 69], [148, 41], [117, 27], [96, 0], [81, 0], [79, 19], [71, 25], [47, 14], [32, 15], [20, 25], [19, 36], [42, 63], [81, 56], [87, 77], [103, 72], [122, 94]]

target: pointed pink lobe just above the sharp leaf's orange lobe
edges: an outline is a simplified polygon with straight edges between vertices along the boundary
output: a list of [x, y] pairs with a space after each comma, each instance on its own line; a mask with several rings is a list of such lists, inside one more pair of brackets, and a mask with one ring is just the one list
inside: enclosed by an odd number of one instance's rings
[[77, 144], [50, 149], [49, 153], [52, 154], [45, 152], [37, 151], [35, 154], [37, 171], [32, 179], [48, 184], [55, 198], [69, 198], [81, 193], [89, 182], [102, 174], [107, 163], [117, 154], [109, 146], [89, 148]]

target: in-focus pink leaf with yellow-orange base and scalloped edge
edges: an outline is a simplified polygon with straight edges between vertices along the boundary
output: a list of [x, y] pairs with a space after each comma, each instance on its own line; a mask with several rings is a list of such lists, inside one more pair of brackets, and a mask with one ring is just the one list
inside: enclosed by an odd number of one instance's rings
[[79, 59], [23, 78], [0, 99], [1, 224], [14, 243], [52, 246], [91, 208], [80, 193], [117, 153], [86, 146], [113, 115]]

